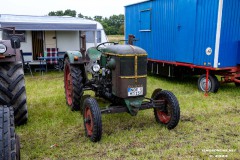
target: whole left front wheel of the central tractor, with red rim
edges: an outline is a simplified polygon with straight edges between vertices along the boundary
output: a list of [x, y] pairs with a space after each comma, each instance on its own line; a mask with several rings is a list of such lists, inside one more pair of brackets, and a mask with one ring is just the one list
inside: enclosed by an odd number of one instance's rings
[[86, 98], [83, 108], [85, 135], [92, 142], [98, 142], [102, 137], [102, 117], [98, 103], [94, 98]]

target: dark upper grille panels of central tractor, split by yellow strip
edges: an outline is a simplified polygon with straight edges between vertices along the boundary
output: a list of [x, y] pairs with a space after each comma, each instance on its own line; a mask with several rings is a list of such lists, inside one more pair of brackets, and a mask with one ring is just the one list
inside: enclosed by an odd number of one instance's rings
[[[147, 57], [137, 57], [137, 75], [147, 74]], [[121, 57], [120, 58], [120, 75], [134, 76], [135, 75], [135, 57]]]

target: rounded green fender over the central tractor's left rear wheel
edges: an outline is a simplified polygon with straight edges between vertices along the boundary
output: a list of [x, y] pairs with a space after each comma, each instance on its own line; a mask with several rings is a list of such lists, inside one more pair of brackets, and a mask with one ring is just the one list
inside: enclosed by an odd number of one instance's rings
[[66, 51], [64, 55], [64, 59], [67, 57], [69, 58], [70, 63], [76, 63], [76, 64], [83, 63], [83, 55], [79, 51]]

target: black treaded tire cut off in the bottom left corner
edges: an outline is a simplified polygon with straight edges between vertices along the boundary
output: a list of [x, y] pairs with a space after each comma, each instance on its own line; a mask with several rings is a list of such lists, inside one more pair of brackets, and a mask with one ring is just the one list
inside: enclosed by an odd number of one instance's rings
[[19, 138], [15, 134], [14, 111], [12, 107], [0, 106], [0, 159], [20, 159]]

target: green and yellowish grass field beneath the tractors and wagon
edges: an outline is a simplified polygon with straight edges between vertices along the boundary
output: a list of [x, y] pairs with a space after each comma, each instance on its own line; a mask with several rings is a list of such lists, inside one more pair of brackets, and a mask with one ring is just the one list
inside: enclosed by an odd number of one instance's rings
[[[179, 100], [181, 120], [174, 130], [156, 123], [153, 110], [102, 115], [99, 143], [86, 137], [83, 119], [66, 105], [63, 73], [26, 75], [29, 121], [17, 127], [21, 157], [32, 159], [208, 159], [227, 155], [238, 159], [240, 149], [240, 92], [221, 85], [205, 97], [195, 77], [175, 80], [148, 77], [148, 94], [155, 88], [172, 91]], [[230, 149], [209, 152], [207, 149]]]

